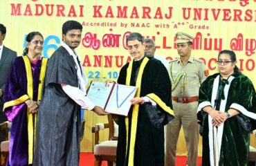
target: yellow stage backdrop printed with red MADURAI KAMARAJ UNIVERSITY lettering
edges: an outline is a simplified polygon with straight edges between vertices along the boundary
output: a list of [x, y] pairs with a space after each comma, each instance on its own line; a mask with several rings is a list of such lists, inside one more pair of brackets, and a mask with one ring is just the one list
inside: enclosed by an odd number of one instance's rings
[[[26, 34], [39, 31], [44, 35], [43, 55], [51, 57], [60, 46], [64, 21], [79, 21], [83, 32], [77, 52], [90, 81], [118, 78], [120, 68], [131, 60], [125, 45], [129, 33], [154, 39], [156, 53], [170, 61], [179, 57], [174, 35], [183, 31], [195, 37], [192, 55], [205, 62], [210, 74], [217, 72], [219, 51], [231, 49], [237, 54], [237, 66], [255, 84], [255, 6], [256, 0], [1, 0], [0, 22], [7, 28], [4, 45], [18, 55]], [[81, 151], [92, 151], [91, 127], [107, 118], [91, 111], [84, 115]], [[183, 133], [178, 154], [185, 154]]]

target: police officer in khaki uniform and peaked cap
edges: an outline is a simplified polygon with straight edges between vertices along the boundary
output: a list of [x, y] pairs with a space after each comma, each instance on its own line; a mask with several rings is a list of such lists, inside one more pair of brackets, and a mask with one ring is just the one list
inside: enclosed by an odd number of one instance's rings
[[175, 43], [180, 57], [169, 64], [175, 118], [166, 125], [165, 166], [175, 165], [176, 144], [181, 125], [188, 149], [188, 166], [197, 165], [199, 127], [196, 109], [199, 87], [206, 79], [208, 70], [201, 60], [191, 56], [193, 38], [186, 33], [176, 33]]

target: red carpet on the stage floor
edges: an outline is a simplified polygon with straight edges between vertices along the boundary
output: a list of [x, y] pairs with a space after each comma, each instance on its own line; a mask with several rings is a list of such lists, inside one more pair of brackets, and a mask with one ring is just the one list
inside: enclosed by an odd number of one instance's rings
[[[176, 158], [176, 166], [185, 166], [186, 165], [187, 156], [177, 156]], [[198, 159], [198, 166], [201, 166], [202, 158]], [[93, 166], [94, 165], [94, 156], [93, 153], [80, 153], [80, 166]], [[106, 166], [104, 162], [102, 166]]]

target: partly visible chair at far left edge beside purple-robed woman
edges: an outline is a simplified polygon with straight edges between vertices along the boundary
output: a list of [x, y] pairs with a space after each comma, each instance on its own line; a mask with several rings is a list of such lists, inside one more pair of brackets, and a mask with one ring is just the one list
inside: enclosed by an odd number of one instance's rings
[[9, 154], [8, 127], [9, 122], [0, 124], [0, 165], [5, 166]]

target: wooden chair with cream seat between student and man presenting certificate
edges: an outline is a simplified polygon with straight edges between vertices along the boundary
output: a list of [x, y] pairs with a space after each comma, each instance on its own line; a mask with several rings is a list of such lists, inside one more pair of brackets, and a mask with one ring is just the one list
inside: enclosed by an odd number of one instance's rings
[[[109, 123], [98, 123], [92, 128], [92, 132], [95, 133], [95, 146], [94, 152], [94, 165], [101, 166], [102, 160], [107, 161], [108, 166], [113, 166], [116, 163], [116, 149], [118, 145], [118, 124], [113, 120], [112, 115], [108, 114], [107, 118]], [[100, 130], [109, 129], [109, 140], [99, 142]]]

